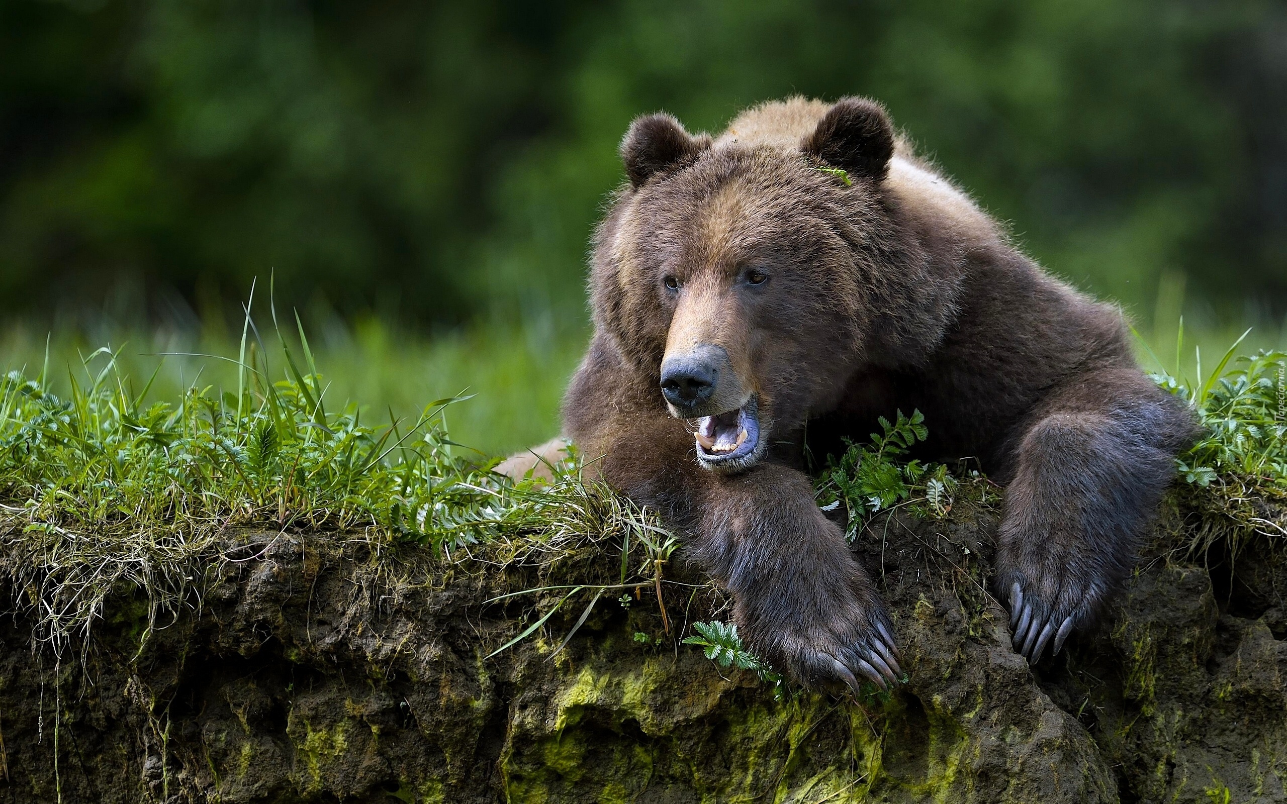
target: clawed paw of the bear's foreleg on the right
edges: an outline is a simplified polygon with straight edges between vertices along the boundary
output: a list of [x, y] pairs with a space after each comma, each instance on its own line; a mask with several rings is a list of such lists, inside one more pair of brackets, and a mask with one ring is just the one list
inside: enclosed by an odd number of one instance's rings
[[1089, 625], [1109, 587], [1103, 565], [1067, 556], [1027, 561], [1001, 549], [997, 590], [1010, 605], [1014, 650], [1028, 664], [1041, 659], [1046, 646], [1055, 656], [1073, 630]]

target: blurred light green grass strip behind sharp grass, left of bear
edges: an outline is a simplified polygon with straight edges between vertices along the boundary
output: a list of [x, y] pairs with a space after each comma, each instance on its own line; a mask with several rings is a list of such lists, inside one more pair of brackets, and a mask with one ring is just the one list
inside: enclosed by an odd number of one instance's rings
[[[260, 322], [275, 346], [272, 322]], [[290, 328], [293, 329], [293, 322]], [[364, 417], [409, 418], [427, 400], [468, 395], [444, 414], [452, 439], [484, 455], [502, 455], [539, 444], [559, 432], [559, 404], [568, 378], [586, 347], [587, 331], [528, 327], [475, 328], [436, 337], [402, 331], [378, 319], [359, 320], [351, 327], [333, 324], [310, 332], [326, 399], [342, 407], [359, 403]], [[75, 332], [53, 334], [31, 327], [12, 325], [0, 332], [0, 373], [18, 370], [39, 376], [46, 364], [48, 387], [69, 392], [71, 378], [86, 381], [82, 358], [107, 346], [116, 355], [113, 373], [127, 386], [142, 383], [157, 372], [147, 400], [178, 400], [193, 382], [216, 394], [234, 391], [236, 358], [241, 332], [207, 327], [202, 332], [131, 331]], [[287, 333], [297, 343], [297, 337]], [[165, 356], [157, 356], [165, 355]], [[282, 378], [279, 361], [270, 369]], [[102, 368], [102, 360], [97, 367]], [[145, 401], [147, 401], [145, 400]]]

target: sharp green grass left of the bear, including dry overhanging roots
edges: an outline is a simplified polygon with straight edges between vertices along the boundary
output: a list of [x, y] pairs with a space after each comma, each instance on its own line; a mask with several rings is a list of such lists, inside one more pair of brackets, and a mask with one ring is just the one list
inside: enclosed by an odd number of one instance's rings
[[[651, 515], [582, 482], [574, 462], [552, 485], [492, 472], [495, 459], [448, 427], [472, 399], [409, 416], [338, 401], [301, 329], [260, 334], [247, 325], [203, 359], [216, 370], [183, 370], [187, 385], [163, 395], [167, 363], [151, 358], [135, 376], [124, 349], [90, 351], [57, 388], [53, 356], [0, 378], [0, 569], [55, 648], [88, 633], [121, 583], [147, 592], [153, 620], [199, 598], [220, 545], [245, 529], [417, 543], [447, 560], [483, 544], [501, 563], [605, 538], [636, 553], [656, 542]], [[622, 583], [636, 576], [622, 566]]]

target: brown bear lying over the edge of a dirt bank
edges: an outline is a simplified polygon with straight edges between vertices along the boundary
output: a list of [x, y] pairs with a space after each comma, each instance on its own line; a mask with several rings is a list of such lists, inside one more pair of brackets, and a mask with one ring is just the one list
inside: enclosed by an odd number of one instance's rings
[[717, 138], [651, 114], [620, 154], [565, 434], [683, 534], [754, 651], [808, 686], [901, 672], [802, 471], [806, 432], [816, 455], [896, 409], [1006, 486], [1015, 647], [1036, 661], [1095, 620], [1193, 431], [1116, 307], [1021, 253], [871, 100], [766, 103]]

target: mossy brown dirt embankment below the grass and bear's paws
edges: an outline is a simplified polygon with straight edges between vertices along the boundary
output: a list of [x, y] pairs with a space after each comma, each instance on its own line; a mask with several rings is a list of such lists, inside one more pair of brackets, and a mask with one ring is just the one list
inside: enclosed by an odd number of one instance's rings
[[[1160, 540], [1183, 526], [1175, 506]], [[987, 594], [995, 512], [878, 520], [910, 681], [861, 701], [721, 672], [676, 632], [709, 590], [592, 590], [484, 659], [618, 545], [542, 567], [241, 534], [199, 610], [122, 588], [84, 653], [0, 624], [0, 801], [1277, 801], [1287, 799], [1287, 567], [1154, 558], [1100, 633], [1030, 669]], [[1257, 547], [1259, 545], [1259, 547]], [[686, 579], [692, 581], [695, 579]], [[10, 584], [12, 585], [12, 584]], [[22, 590], [5, 588], [3, 599]], [[628, 603], [628, 605], [623, 605]], [[683, 630], [683, 633], [690, 633]], [[142, 643], [142, 648], [140, 648]]]

